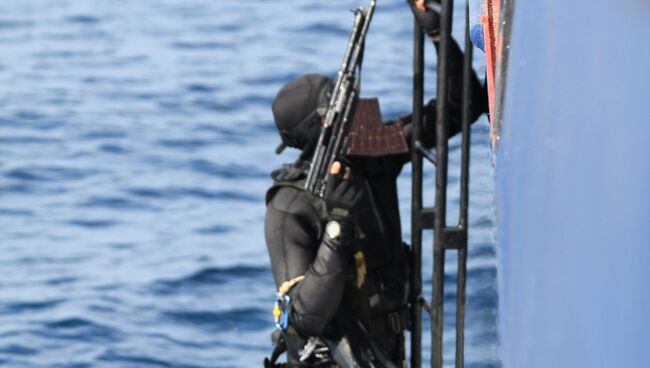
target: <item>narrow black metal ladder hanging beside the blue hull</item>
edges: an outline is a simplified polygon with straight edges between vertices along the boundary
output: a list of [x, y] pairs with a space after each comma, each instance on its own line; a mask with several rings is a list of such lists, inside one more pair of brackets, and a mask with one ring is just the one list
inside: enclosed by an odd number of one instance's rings
[[[453, 0], [442, 0], [440, 45], [437, 69], [437, 121], [435, 157], [420, 143], [424, 99], [424, 33], [417, 21], [414, 27], [413, 60], [413, 135], [411, 162], [413, 170], [411, 203], [411, 367], [422, 365], [422, 311], [431, 316], [431, 367], [443, 363], [444, 268], [445, 252], [458, 252], [456, 278], [456, 367], [464, 366], [465, 284], [467, 277], [467, 208], [469, 198], [469, 116], [471, 109], [470, 73], [472, 43], [469, 38], [469, 6], [466, 6], [465, 59], [463, 65], [463, 113], [460, 172], [460, 213], [454, 226], [447, 226], [447, 169], [449, 151], [449, 45], [451, 42]], [[423, 207], [423, 158], [436, 165], [435, 206]], [[432, 302], [422, 295], [422, 233], [434, 231]]]

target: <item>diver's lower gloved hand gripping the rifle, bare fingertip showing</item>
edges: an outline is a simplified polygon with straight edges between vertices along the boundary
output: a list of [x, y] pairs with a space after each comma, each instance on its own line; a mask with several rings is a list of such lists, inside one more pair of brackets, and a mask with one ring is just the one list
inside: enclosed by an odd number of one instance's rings
[[351, 175], [349, 167], [344, 168], [335, 161], [327, 177], [325, 207], [328, 219], [346, 224], [355, 222], [365, 192], [363, 180]]

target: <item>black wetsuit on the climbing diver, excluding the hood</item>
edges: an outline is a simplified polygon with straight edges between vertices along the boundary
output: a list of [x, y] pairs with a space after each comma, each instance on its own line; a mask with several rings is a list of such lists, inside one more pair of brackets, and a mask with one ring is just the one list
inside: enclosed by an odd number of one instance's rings
[[[450, 72], [450, 134], [461, 129], [461, 81], [463, 57], [454, 43]], [[485, 90], [472, 75], [475, 109], [472, 121], [485, 111]], [[436, 109], [430, 101], [424, 109], [422, 141], [435, 142]], [[410, 142], [410, 116], [402, 124]], [[356, 237], [349, 254], [322, 246], [326, 213], [322, 199], [301, 189], [305, 162], [274, 172], [276, 184], [267, 193], [266, 243], [275, 283], [297, 276], [305, 278], [289, 293], [292, 298], [289, 328], [285, 333], [288, 363], [298, 366], [298, 351], [308, 336], [336, 340], [354, 335], [361, 323], [371, 340], [390, 361], [404, 360], [403, 329], [407, 327], [408, 248], [402, 242], [397, 195], [397, 177], [410, 153], [382, 157], [356, 157], [354, 167], [362, 175], [367, 191], [359, 211]], [[363, 287], [357, 287], [353, 253], [362, 251], [367, 269]], [[354, 338], [351, 338], [354, 340]], [[351, 341], [351, 344], [356, 344]]]

